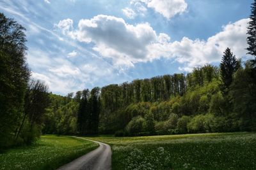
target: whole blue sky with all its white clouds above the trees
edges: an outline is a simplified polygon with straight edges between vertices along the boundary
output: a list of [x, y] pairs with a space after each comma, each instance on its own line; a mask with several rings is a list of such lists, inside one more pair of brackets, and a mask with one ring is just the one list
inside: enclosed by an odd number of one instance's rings
[[32, 78], [54, 94], [246, 58], [253, 0], [0, 0], [26, 28]]

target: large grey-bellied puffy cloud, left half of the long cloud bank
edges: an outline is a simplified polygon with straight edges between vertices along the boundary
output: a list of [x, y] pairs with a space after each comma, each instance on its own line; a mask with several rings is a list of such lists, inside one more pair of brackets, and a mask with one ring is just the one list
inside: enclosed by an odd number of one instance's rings
[[[65, 32], [65, 31], [64, 31]], [[72, 34], [79, 41], [94, 43], [93, 50], [110, 57], [115, 64], [128, 64], [147, 57], [147, 45], [157, 39], [148, 23], [129, 25], [122, 18], [97, 15], [90, 20], [80, 20]]]

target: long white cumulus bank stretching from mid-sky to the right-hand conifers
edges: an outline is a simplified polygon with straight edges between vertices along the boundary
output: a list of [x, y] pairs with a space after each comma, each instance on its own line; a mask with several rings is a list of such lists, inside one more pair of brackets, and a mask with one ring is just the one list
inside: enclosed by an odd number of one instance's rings
[[156, 34], [147, 23], [130, 25], [122, 18], [97, 15], [89, 20], [80, 20], [72, 35], [78, 41], [92, 43], [94, 51], [102, 57], [111, 58], [116, 66], [131, 67], [136, 62], [163, 57], [185, 64], [180, 69], [189, 70], [220, 61], [227, 47], [237, 57], [245, 55], [247, 23], [248, 19], [229, 23], [223, 26], [221, 32], [206, 40], [184, 37], [172, 42], [168, 34]]

